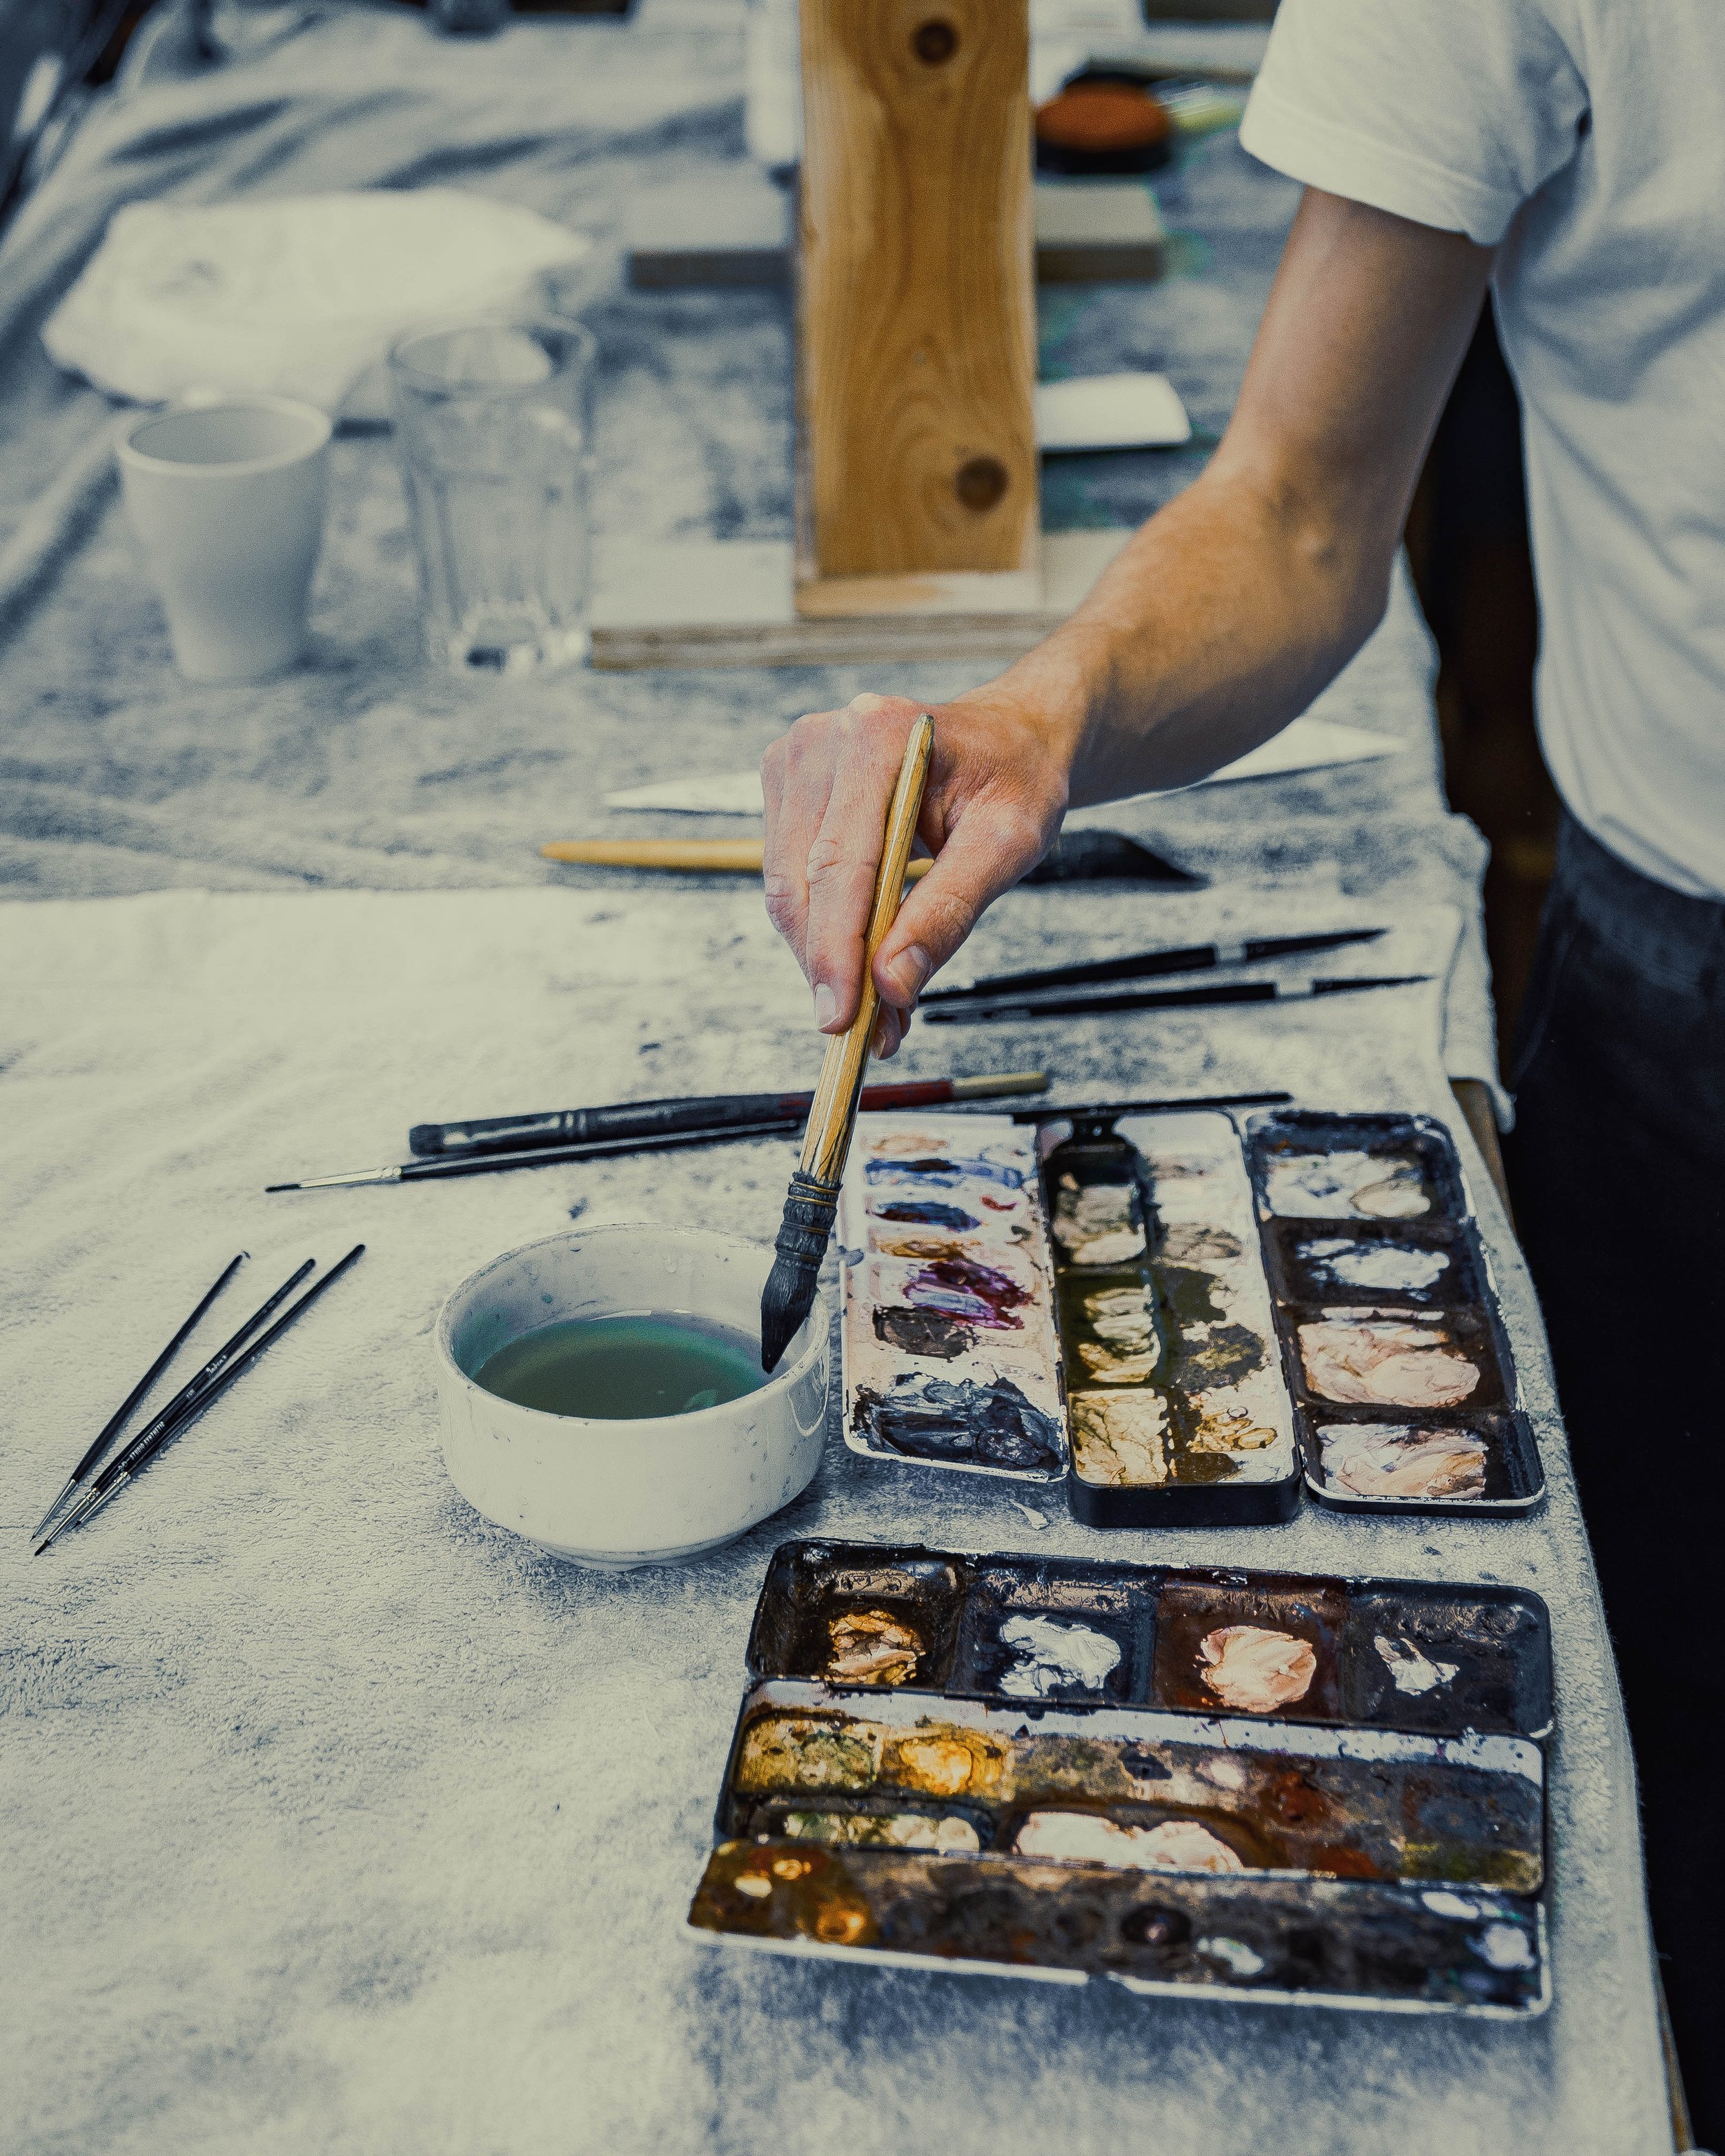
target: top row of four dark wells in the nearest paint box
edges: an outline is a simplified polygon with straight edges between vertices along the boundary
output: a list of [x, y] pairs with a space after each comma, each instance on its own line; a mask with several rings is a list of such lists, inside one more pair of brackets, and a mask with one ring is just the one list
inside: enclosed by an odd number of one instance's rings
[[[882, 1688], [992, 1697], [1035, 1712], [1033, 1695], [998, 1684], [998, 1675], [1037, 1660], [1035, 1632], [1026, 1639], [1018, 1628], [1013, 1641], [1000, 1636], [1011, 1617], [1031, 1617], [1078, 1626], [1121, 1647], [1119, 1660], [1089, 1684], [1082, 1658], [1074, 1658], [1080, 1682], [1057, 1688], [1054, 1703], [1117, 1701], [1438, 1736], [1544, 1738], [1552, 1723], [1550, 1617], [1540, 1595], [1520, 1587], [1007, 1552], [966, 1557], [828, 1539], [787, 1542], [774, 1552], [748, 1639], [750, 1677], [832, 1682], [830, 1615], [858, 1606], [908, 1617], [929, 1641], [929, 1656], [912, 1677], [880, 1671], [869, 1680]], [[1220, 1658], [1214, 1647], [1203, 1651], [1205, 1639], [1238, 1628], [1276, 1634], [1270, 1643], [1244, 1643], [1251, 1649], [1244, 1673], [1257, 1671], [1264, 1682], [1257, 1708], [1240, 1703], [1253, 1692], [1227, 1667], [1233, 1643], [1220, 1643]], [[1044, 1645], [1063, 1643], [1044, 1639]], [[1309, 1664], [1298, 1645], [1311, 1649]], [[1106, 1647], [1091, 1656], [1095, 1667]], [[1257, 1656], [1268, 1656], [1268, 1667]], [[1276, 1675], [1279, 1669], [1285, 1673]], [[1212, 1682], [1218, 1671], [1233, 1699]]]

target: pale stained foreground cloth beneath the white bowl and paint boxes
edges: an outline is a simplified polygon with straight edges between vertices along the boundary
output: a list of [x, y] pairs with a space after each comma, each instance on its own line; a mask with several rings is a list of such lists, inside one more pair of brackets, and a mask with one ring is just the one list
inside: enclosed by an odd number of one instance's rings
[[[985, 925], [1016, 964], [1095, 893]], [[1238, 923], [1173, 899], [1177, 936]], [[1315, 925], [1320, 910], [1298, 912]], [[1397, 968], [1455, 918], [1397, 916]], [[1624, 2156], [1662, 2091], [1628, 1746], [1533, 1294], [1473, 1162], [1550, 1477], [1531, 1520], [1098, 1535], [1059, 1490], [850, 1453], [686, 1567], [604, 1576], [479, 1520], [429, 1330], [498, 1250], [658, 1212], [774, 1231], [787, 1143], [261, 1194], [408, 1123], [811, 1076], [746, 890], [153, 893], [0, 906], [0, 2078], [6, 2147], [341, 2156], [903, 2156], [1276, 2147]], [[1145, 1013], [1061, 1046], [1067, 1097], [1283, 1084], [1445, 1112], [1432, 992]], [[1024, 1037], [1009, 1050], [1022, 1059]], [[936, 1033], [912, 1067], [942, 1067]], [[196, 1289], [354, 1274], [101, 1520], [24, 1529]], [[237, 1322], [237, 1315], [235, 1315]], [[218, 1337], [222, 1337], [218, 1332]], [[789, 1964], [681, 1932], [787, 1535], [1499, 1578], [1557, 1647], [1557, 2005], [1527, 2027]], [[78, 2037], [65, 2040], [75, 2016]]]

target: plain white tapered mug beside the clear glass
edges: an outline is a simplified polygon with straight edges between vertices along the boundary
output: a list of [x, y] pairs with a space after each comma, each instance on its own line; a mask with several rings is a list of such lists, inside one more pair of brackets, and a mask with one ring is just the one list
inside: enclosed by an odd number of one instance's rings
[[190, 681], [261, 681], [306, 645], [330, 418], [222, 397], [138, 420], [119, 444], [132, 528]]

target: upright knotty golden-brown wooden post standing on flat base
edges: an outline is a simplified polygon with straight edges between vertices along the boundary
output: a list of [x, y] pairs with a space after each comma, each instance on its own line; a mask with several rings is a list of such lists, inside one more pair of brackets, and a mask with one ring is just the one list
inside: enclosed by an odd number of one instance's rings
[[798, 612], [1037, 578], [1029, 0], [802, 0]]

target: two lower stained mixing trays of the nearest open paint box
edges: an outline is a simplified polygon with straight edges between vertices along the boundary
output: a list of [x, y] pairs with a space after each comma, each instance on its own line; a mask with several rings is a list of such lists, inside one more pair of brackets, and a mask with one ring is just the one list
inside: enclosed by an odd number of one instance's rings
[[[875, 1966], [1529, 2016], [1550, 1996], [1542, 1779], [1505, 1738], [757, 1684], [688, 1923]], [[1050, 1820], [1134, 1856], [1018, 1848]], [[1145, 1848], [1169, 1830], [1236, 1858], [1169, 1869]]]

